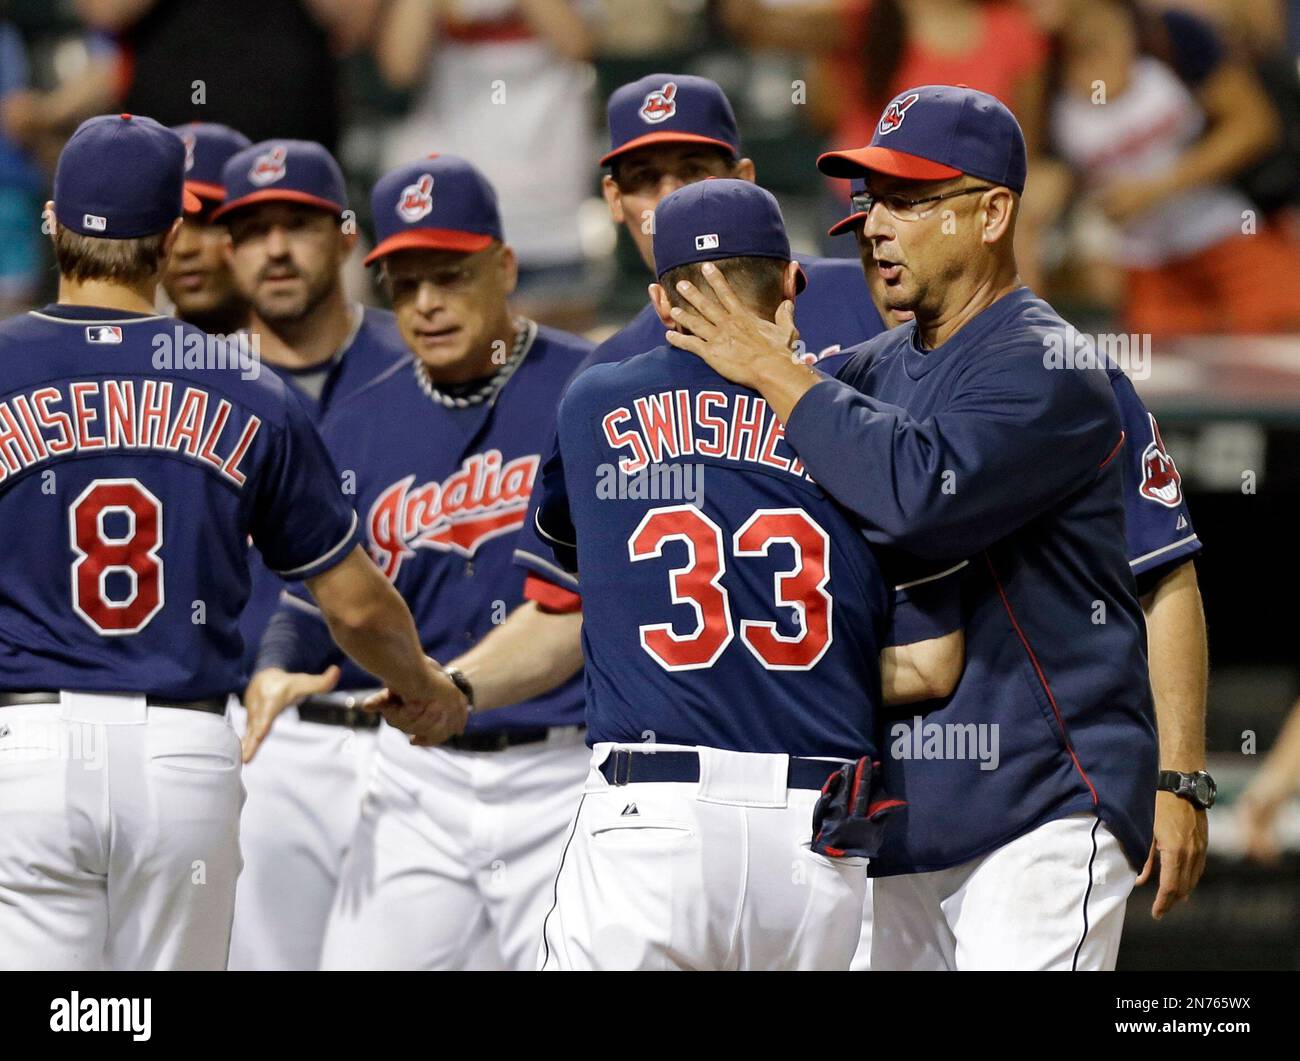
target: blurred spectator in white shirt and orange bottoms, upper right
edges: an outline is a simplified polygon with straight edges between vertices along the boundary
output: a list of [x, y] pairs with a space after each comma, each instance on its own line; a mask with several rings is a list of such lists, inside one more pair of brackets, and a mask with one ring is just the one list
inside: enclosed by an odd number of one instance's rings
[[[1092, 256], [1124, 270], [1124, 326], [1300, 329], [1300, 251], [1231, 185], [1280, 131], [1251, 66], [1180, 12], [1145, 17], [1128, 0], [1032, 7], [1060, 49], [1052, 144], [1082, 186], [1076, 220]], [[1062, 182], [1062, 208], [1067, 196]]]

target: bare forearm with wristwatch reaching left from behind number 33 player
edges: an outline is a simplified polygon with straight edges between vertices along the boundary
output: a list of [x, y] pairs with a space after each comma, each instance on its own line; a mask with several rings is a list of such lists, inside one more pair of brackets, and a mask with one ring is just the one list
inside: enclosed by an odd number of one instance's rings
[[451, 663], [473, 685], [476, 711], [542, 696], [582, 667], [582, 612], [547, 612], [528, 601]]

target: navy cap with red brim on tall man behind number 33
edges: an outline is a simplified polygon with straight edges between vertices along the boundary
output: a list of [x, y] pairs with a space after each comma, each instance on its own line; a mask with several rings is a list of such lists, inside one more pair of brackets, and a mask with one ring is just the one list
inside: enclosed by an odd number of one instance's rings
[[650, 74], [615, 88], [610, 96], [612, 159], [654, 143], [706, 143], [740, 155], [740, 131], [727, 94], [708, 78], [693, 74]]

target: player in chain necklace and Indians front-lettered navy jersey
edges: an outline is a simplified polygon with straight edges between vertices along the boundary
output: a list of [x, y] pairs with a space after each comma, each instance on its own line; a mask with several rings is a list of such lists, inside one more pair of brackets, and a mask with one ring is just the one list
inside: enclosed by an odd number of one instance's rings
[[[413, 356], [337, 406], [322, 430], [356, 476], [370, 555], [420, 616], [424, 644], [454, 654], [523, 602], [515, 534], [560, 390], [592, 346], [511, 313], [515, 256], [495, 192], [464, 159], [402, 166], [372, 202], [380, 242], [368, 261], [382, 269]], [[484, 954], [534, 966], [586, 776], [578, 622], [540, 624], [536, 688], [510, 706], [489, 713], [465, 685], [474, 718], [443, 746], [380, 732], [322, 967], [458, 969]], [[333, 662], [324, 635], [295, 596], [260, 666], [321, 671]], [[341, 680], [377, 684], [351, 667]]]

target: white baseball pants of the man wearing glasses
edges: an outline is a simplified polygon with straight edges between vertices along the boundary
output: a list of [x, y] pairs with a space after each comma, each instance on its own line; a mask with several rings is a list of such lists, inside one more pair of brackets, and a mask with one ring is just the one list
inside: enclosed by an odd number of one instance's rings
[[980, 858], [872, 880], [871, 969], [1109, 970], [1138, 874], [1093, 814]]

